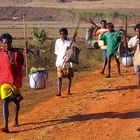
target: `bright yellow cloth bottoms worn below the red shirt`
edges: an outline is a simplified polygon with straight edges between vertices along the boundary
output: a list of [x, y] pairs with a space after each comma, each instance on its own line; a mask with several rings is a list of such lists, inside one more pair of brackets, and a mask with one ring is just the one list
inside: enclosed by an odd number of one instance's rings
[[4, 100], [7, 97], [13, 97], [18, 94], [19, 90], [13, 84], [2, 84], [0, 86], [1, 99]]

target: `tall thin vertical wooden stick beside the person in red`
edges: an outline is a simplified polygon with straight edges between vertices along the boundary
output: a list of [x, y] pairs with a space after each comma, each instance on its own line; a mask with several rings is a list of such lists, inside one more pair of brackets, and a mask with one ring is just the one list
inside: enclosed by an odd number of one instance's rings
[[[23, 14], [23, 29], [24, 29], [24, 42], [25, 49], [27, 51], [27, 35], [26, 35], [26, 22], [25, 22], [25, 14]], [[28, 79], [28, 61], [27, 61], [27, 52], [25, 54], [25, 65], [26, 65], [26, 78]]]

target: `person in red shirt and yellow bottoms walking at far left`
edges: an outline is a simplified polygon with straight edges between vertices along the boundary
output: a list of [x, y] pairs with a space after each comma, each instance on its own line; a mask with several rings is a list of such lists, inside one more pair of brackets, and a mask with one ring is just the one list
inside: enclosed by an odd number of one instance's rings
[[12, 47], [12, 36], [4, 33], [0, 37], [2, 49], [0, 50], [0, 94], [2, 98], [2, 112], [4, 128], [2, 132], [9, 132], [9, 103], [15, 104], [14, 127], [19, 125], [18, 116], [20, 101], [23, 99], [19, 92], [22, 86], [22, 66], [24, 64], [24, 51]]

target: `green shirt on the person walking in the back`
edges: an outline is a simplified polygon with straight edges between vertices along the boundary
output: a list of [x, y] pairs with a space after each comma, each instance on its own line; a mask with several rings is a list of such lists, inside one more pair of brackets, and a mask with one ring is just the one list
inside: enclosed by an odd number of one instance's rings
[[101, 36], [101, 40], [104, 40], [107, 44], [107, 56], [114, 55], [117, 53], [119, 44], [121, 42], [120, 32], [106, 32]]

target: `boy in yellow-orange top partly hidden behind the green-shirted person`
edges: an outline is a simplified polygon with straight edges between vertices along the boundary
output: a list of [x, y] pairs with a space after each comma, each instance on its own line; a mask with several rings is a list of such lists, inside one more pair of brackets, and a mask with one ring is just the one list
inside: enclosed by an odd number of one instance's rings
[[94, 36], [98, 36], [98, 45], [101, 47], [101, 49], [103, 50], [103, 59], [104, 59], [104, 63], [103, 63], [103, 68], [101, 71], [101, 74], [104, 74], [105, 68], [107, 66], [107, 55], [106, 55], [106, 49], [107, 49], [107, 45], [105, 45], [105, 43], [103, 43], [102, 40], [100, 40], [101, 36], [108, 31], [107, 28], [107, 21], [106, 20], [101, 20], [101, 28], [95, 28], [95, 31], [93, 33]]

